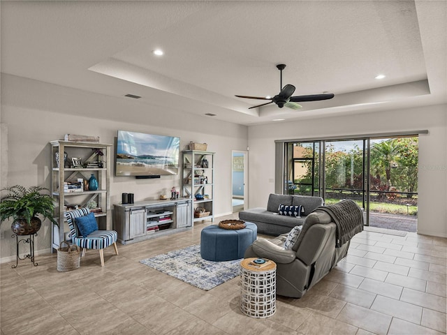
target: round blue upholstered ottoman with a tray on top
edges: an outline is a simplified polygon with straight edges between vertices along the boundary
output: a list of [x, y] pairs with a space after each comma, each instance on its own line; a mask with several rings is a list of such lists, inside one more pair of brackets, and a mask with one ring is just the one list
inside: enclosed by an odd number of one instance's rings
[[244, 229], [227, 230], [218, 225], [203, 228], [200, 234], [200, 255], [204, 260], [223, 262], [244, 258], [245, 250], [256, 240], [258, 227], [251, 222]]

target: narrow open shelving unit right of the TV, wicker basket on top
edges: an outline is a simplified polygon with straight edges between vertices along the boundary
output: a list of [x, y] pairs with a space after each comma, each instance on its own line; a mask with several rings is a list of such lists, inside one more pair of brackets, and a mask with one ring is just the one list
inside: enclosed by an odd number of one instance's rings
[[[182, 195], [191, 198], [193, 221], [214, 221], [214, 152], [185, 150], [182, 152]], [[196, 209], [203, 207], [206, 216], [197, 217]]]

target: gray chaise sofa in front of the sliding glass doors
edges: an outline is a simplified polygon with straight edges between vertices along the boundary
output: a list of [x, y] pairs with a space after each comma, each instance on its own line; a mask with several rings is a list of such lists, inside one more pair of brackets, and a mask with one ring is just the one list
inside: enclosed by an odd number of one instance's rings
[[[301, 217], [285, 216], [278, 213], [280, 204], [286, 206], [304, 207]], [[307, 214], [312, 213], [316, 207], [323, 206], [323, 198], [309, 197], [305, 195], [281, 195], [270, 194], [267, 208], [257, 207], [239, 212], [241, 220], [255, 223], [258, 233], [278, 236], [290, 232], [295, 225], [302, 225]]]

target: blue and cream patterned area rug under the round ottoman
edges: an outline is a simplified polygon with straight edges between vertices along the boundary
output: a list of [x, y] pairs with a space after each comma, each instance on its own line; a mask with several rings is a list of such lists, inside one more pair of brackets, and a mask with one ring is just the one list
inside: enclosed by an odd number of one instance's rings
[[140, 263], [148, 267], [205, 291], [239, 276], [240, 262], [241, 260], [228, 262], [204, 260], [200, 257], [199, 244], [140, 260]]

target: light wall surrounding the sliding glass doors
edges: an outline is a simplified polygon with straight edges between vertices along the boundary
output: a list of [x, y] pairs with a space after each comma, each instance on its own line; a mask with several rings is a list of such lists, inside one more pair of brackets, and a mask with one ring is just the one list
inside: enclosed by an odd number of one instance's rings
[[418, 233], [447, 237], [447, 105], [249, 127], [249, 204], [274, 193], [274, 140], [427, 129], [419, 137]]

